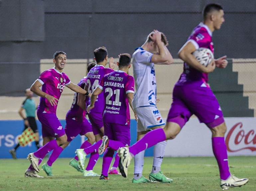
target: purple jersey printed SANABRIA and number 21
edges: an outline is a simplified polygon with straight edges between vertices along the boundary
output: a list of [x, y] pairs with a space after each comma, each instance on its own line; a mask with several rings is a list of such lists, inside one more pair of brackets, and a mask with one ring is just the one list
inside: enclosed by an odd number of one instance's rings
[[116, 70], [105, 75], [98, 87], [103, 90], [105, 98], [103, 122], [129, 124], [130, 111], [126, 94], [134, 93], [134, 78], [121, 70]]

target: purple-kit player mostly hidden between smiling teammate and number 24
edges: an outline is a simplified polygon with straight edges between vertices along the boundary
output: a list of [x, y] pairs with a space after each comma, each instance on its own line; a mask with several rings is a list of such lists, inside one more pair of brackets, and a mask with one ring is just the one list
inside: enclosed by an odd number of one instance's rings
[[[92, 62], [88, 64], [87, 66], [87, 72], [90, 71], [91, 68], [93, 68], [96, 65], [96, 63]], [[83, 77], [79, 83], [77, 84], [81, 88], [84, 89], [86, 83], [86, 76]], [[80, 98], [82, 96], [82, 98]], [[42, 165], [42, 169], [46, 172], [48, 176], [52, 176], [52, 164], [58, 159], [64, 148], [66, 148], [69, 143], [78, 135], [84, 135], [87, 137], [87, 140], [85, 140], [80, 148], [86, 148], [91, 146], [95, 142], [95, 137], [92, 132], [92, 127], [90, 122], [85, 118], [85, 111], [80, 108], [77, 105], [78, 100], [84, 101], [85, 99], [84, 94], [80, 93], [74, 93], [73, 102], [71, 105], [71, 108], [66, 114], [66, 125], [65, 125], [65, 133], [67, 136], [67, 142], [61, 145], [60, 147], [57, 147], [53, 150], [53, 153], [49, 157], [48, 161]], [[80, 99], [79, 99], [80, 98]], [[89, 160], [90, 161], [90, 160]], [[90, 162], [89, 162], [90, 163]], [[78, 158], [75, 156], [73, 159], [70, 160], [69, 165], [71, 167], [74, 167], [76, 170], [83, 172], [78, 164]], [[85, 170], [86, 171], [86, 170]], [[86, 171], [86, 176], [99, 176], [97, 173], [93, 172], [92, 170]]]

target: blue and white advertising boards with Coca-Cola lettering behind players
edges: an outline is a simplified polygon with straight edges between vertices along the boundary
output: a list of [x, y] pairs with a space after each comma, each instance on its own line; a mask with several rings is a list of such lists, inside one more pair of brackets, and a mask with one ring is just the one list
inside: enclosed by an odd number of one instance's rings
[[[256, 118], [225, 118], [227, 132], [225, 142], [229, 156], [256, 155]], [[37, 121], [41, 133], [41, 124]], [[65, 120], [61, 120], [65, 125]], [[23, 128], [22, 120], [0, 120], [0, 158], [11, 158], [9, 150], [17, 144], [17, 137]], [[131, 120], [131, 144], [136, 142], [136, 121]], [[80, 147], [85, 140], [84, 136], [77, 136], [64, 149], [61, 158], [74, 157], [74, 151]], [[42, 136], [40, 144], [42, 145]], [[36, 146], [30, 143], [20, 147], [16, 154], [17, 158], [26, 158], [28, 153], [34, 152]], [[153, 156], [153, 147], [145, 152], [145, 156]], [[211, 132], [198, 119], [192, 118], [183, 127], [181, 133], [174, 139], [168, 140], [165, 156], [187, 157], [187, 156], [213, 156], [211, 149]]]

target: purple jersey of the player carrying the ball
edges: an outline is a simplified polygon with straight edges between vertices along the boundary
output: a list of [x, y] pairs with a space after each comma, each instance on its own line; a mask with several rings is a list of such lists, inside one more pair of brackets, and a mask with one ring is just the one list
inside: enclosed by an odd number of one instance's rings
[[[211, 39], [212, 32], [203, 23], [198, 24], [192, 31], [189, 36], [187, 43], [192, 42], [196, 49], [204, 47], [214, 51], [213, 42]], [[176, 83], [177, 85], [182, 85], [186, 82], [208, 82], [208, 74], [202, 73], [192, 67], [190, 67], [187, 63], [184, 63], [183, 73], [181, 74], [180, 79]]]

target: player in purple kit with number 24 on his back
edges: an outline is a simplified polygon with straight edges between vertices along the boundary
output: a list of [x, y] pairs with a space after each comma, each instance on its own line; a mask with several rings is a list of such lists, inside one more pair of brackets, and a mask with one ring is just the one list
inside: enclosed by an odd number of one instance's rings
[[[96, 65], [90, 70], [87, 74], [86, 78], [86, 86], [85, 90], [88, 92], [93, 92], [94, 89], [98, 86], [99, 82], [103, 78], [105, 74], [113, 72], [115, 68], [114, 59], [111, 57], [109, 58], [109, 68], [105, 68], [108, 62], [108, 53], [105, 47], [96, 48], [93, 52], [94, 59], [96, 61]], [[90, 104], [90, 99], [88, 101]], [[86, 110], [85, 102], [79, 102], [78, 105]], [[92, 125], [92, 131], [95, 136], [96, 143], [90, 147], [85, 149], [77, 149], [75, 151], [79, 165], [82, 169], [84, 169], [84, 161], [85, 157], [88, 154], [93, 154], [94, 156], [94, 164], [90, 165], [92, 169], [96, 164], [96, 161], [99, 158], [98, 148], [101, 144], [102, 136], [104, 135], [104, 127], [102, 121], [102, 114], [105, 107], [105, 100], [103, 94], [99, 94], [97, 99], [95, 100], [94, 109], [88, 114], [88, 118], [90, 119]], [[118, 156], [117, 156], [118, 157]], [[89, 168], [89, 166], [87, 166]]]

